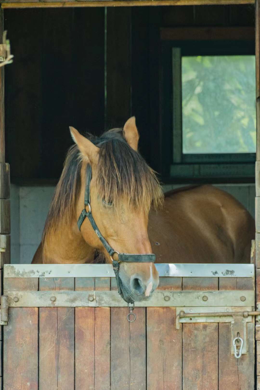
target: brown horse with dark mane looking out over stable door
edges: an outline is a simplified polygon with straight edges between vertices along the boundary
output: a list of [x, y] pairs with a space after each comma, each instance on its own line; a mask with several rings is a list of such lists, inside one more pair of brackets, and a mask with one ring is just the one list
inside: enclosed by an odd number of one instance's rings
[[[119, 252], [136, 254], [122, 261], [119, 280], [124, 299], [148, 299], [159, 283], [153, 262], [241, 263], [250, 261], [255, 223], [231, 195], [213, 186], [195, 186], [163, 195], [156, 173], [138, 152], [135, 118], [101, 137], [84, 137], [70, 127], [75, 142], [51, 201], [42, 241], [33, 264], [112, 263]], [[86, 188], [99, 234], [86, 218], [79, 229]], [[90, 179], [89, 179], [90, 180]], [[88, 212], [90, 212], [90, 204]], [[87, 214], [87, 212], [86, 212]], [[101, 233], [100, 233], [101, 232]], [[99, 238], [102, 235], [110, 255]]]

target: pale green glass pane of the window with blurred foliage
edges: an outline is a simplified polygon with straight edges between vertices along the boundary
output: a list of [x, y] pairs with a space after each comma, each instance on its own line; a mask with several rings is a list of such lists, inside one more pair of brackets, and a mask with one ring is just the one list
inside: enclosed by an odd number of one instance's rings
[[255, 150], [255, 56], [182, 57], [183, 153]]

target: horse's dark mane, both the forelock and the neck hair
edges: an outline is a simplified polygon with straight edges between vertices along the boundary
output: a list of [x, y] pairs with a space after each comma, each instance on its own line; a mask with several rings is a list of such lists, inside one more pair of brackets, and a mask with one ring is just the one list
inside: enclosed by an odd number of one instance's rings
[[[95, 185], [104, 202], [113, 202], [116, 211], [122, 201], [128, 208], [147, 212], [151, 205], [157, 208], [163, 204], [154, 170], [127, 144], [122, 129], [111, 129], [101, 137], [87, 134], [87, 138], [100, 148]], [[57, 229], [60, 223], [71, 224], [80, 195], [82, 161], [78, 146], [71, 146], [50, 204], [43, 241], [50, 229]]]

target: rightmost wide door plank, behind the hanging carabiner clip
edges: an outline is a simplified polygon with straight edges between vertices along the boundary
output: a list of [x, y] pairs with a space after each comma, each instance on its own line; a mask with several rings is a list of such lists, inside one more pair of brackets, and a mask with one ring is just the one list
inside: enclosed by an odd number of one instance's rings
[[[254, 289], [252, 278], [219, 278], [219, 290]], [[242, 295], [242, 291], [241, 291]], [[230, 324], [219, 324], [219, 390], [253, 390], [255, 371], [254, 323], [247, 324], [248, 352], [236, 359], [231, 355]]]

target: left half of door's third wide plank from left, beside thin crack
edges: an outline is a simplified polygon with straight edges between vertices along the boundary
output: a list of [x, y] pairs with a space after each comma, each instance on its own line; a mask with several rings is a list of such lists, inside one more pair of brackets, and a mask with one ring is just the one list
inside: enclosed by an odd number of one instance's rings
[[[75, 291], [95, 289], [94, 278], [75, 278]], [[95, 308], [75, 308], [75, 390], [95, 389]]]

